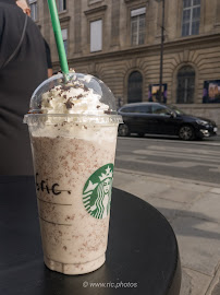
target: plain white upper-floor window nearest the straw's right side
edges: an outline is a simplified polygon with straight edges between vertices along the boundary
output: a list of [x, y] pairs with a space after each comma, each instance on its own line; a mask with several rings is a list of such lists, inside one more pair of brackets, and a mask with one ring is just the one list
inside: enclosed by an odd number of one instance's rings
[[102, 49], [102, 20], [90, 22], [90, 52]]

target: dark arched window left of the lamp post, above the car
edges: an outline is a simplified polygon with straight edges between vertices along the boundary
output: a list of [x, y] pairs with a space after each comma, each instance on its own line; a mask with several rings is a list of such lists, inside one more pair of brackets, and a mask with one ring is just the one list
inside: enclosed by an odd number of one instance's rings
[[129, 76], [127, 86], [127, 103], [138, 103], [142, 102], [142, 87], [143, 87], [143, 76], [140, 72], [134, 71]]

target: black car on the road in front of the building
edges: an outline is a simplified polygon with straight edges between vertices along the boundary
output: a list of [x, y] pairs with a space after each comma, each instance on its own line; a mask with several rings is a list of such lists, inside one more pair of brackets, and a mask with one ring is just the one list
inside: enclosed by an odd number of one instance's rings
[[159, 103], [136, 103], [119, 109], [123, 117], [119, 135], [137, 133], [178, 135], [182, 140], [201, 139], [217, 134], [217, 125], [206, 118], [186, 115], [175, 106]]

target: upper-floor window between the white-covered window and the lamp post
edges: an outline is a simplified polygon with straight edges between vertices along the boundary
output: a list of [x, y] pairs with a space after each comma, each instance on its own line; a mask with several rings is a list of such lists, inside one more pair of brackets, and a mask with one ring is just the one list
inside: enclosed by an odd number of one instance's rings
[[145, 43], [146, 8], [131, 11], [131, 44], [142, 45]]

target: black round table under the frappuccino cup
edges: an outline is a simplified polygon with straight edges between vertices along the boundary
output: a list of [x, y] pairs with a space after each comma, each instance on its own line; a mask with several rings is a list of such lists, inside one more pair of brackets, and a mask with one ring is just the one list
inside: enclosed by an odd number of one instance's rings
[[147, 202], [113, 189], [106, 263], [64, 275], [42, 261], [33, 177], [0, 177], [0, 294], [178, 295], [181, 264], [168, 221]]

